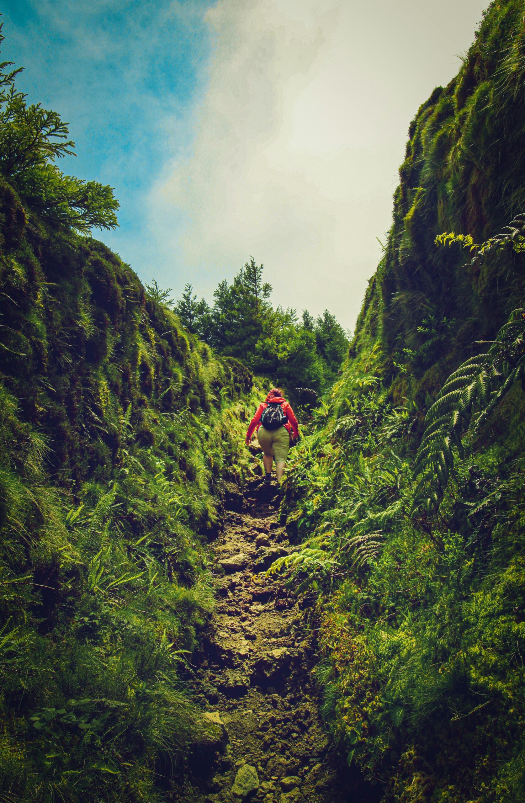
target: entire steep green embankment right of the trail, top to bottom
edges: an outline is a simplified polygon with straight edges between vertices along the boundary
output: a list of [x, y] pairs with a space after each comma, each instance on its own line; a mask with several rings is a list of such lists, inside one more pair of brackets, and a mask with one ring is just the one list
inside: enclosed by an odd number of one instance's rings
[[523, 3], [493, 3], [410, 125], [385, 255], [281, 509], [303, 542], [281, 570], [318, 594], [328, 724], [391, 803], [525, 800], [525, 312], [476, 342], [523, 306], [523, 224], [474, 262], [434, 242], [525, 209], [524, 38]]

